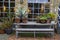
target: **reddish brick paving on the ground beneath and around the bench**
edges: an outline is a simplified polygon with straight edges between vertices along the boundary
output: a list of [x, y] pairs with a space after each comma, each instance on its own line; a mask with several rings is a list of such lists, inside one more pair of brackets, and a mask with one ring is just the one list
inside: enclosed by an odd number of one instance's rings
[[19, 37], [16, 39], [15, 35], [11, 35], [8, 37], [8, 40], [60, 40], [60, 35], [55, 35], [54, 38], [51, 37]]

